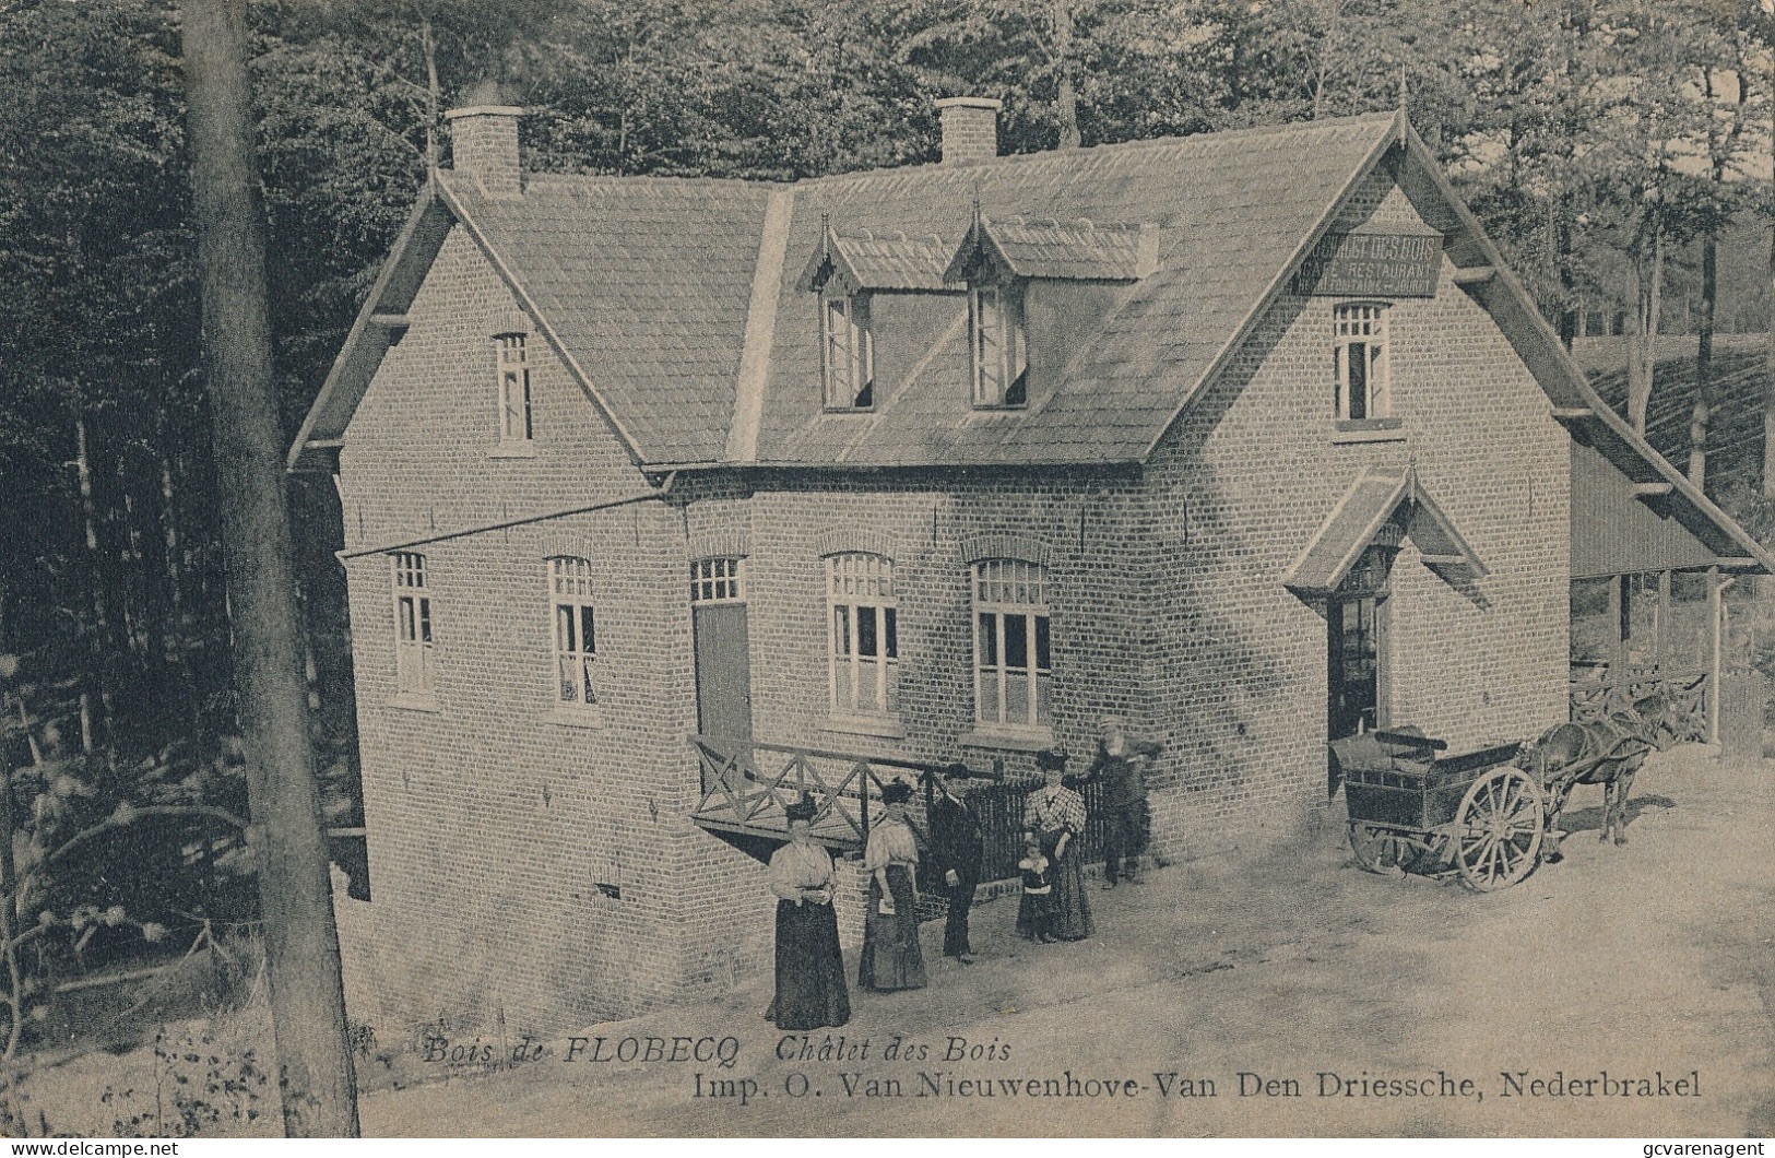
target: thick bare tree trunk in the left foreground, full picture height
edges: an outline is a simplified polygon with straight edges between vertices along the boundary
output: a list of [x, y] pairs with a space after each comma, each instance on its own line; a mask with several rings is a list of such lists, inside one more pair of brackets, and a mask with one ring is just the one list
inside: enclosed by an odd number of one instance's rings
[[181, 9], [204, 377], [284, 1133], [357, 1137], [339, 934], [293, 602], [284, 439], [264, 290], [264, 208], [247, 119], [247, 4], [185, 0]]

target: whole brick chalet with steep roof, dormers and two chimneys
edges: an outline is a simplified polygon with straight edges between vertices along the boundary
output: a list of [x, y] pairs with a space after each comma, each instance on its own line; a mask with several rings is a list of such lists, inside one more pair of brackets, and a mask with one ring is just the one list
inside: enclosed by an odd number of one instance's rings
[[1299, 831], [1331, 737], [1566, 718], [1578, 556], [1768, 567], [1404, 114], [998, 156], [996, 108], [792, 185], [525, 176], [518, 108], [451, 114], [291, 451], [344, 512], [383, 1016], [765, 968], [694, 734], [1024, 773], [1118, 712], [1175, 856]]

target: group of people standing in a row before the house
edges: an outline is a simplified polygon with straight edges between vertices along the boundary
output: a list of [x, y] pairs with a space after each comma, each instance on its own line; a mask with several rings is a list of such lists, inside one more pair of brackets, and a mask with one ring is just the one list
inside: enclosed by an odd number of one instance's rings
[[[1143, 767], [1159, 750], [1156, 742], [1129, 737], [1122, 721], [1108, 716], [1083, 776], [1067, 774], [1063, 750], [1037, 753], [1044, 785], [1030, 794], [1022, 815], [1019, 934], [1047, 943], [1081, 941], [1093, 932], [1079, 847], [1086, 821], [1079, 789], [1088, 781], [1102, 783], [1104, 888], [1134, 879], [1147, 831]], [[962, 964], [974, 961], [967, 922], [985, 858], [985, 833], [962, 799], [969, 776], [964, 764], [935, 773], [939, 790], [925, 817], [925, 856], [948, 900], [943, 952]], [[925, 986], [916, 879], [921, 849], [907, 819], [911, 799], [911, 783], [882, 785], [884, 815], [870, 828], [863, 849], [868, 897], [857, 984], [879, 993]], [[770, 888], [777, 895], [776, 1000], [767, 1016], [786, 1030], [845, 1025], [850, 993], [832, 911], [832, 858], [813, 842], [813, 801], [804, 797], [786, 812], [790, 840], [770, 858]]]

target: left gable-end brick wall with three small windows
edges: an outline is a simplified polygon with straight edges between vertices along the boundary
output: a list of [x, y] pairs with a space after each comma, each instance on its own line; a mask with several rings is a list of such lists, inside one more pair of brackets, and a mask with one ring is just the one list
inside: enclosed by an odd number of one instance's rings
[[[524, 320], [460, 233], [410, 314], [341, 451], [348, 551], [646, 488], [534, 334], [534, 456], [493, 456], [492, 334]], [[559, 1028], [758, 968], [763, 874], [687, 821], [682, 513], [650, 501], [417, 549], [437, 710], [396, 707], [389, 556], [348, 565], [385, 998], [375, 1018], [408, 1032], [440, 1012]], [[589, 721], [552, 709], [552, 554], [593, 563], [602, 703]]]

